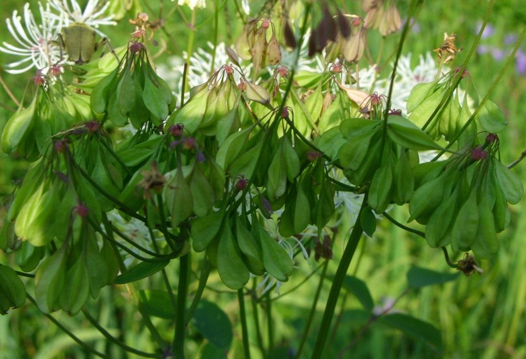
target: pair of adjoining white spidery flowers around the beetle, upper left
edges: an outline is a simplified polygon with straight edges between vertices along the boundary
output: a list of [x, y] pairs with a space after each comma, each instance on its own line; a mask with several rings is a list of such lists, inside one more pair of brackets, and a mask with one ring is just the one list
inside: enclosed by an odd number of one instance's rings
[[77, 0], [49, 0], [45, 6], [38, 3], [39, 24], [28, 3], [24, 5], [23, 22], [22, 16], [15, 10], [12, 18], [6, 19], [6, 24], [16, 45], [3, 41], [0, 51], [19, 59], [5, 65], [6, 71], [22, 73], [35, 67], [47, 73], [51, 66], [63, 60], [59, 36], [62, 29], [73, 23], [83, 23], [104, 36], [98, 30], [99, 25], [116, 24], [112, 21], [112, 15], [104, 15], [108, 6], [107, 1], [88, 0], [83, 11]]

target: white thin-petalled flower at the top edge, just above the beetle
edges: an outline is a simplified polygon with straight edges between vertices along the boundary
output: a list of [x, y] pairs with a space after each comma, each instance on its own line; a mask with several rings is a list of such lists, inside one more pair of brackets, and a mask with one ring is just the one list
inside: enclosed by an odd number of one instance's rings
[[54, 18], [63, 17], [65, 19], [64, 26], [73, 23], [86, 24], [92, 27], [98, 35], [106, 37], [98, 27], [100, 25], [117, 25], [117, 23], [113, 21], [113, 15], [104, 16], [104, 12], [110, 5], [109, 1], [104, 3], [104, 5], [99, 6], [99, 0], [88, 0], [83, 11], [77, 0], [49, 0], [49, 5], [58, 11], [58, 14], [50, 13], [50, 16]]

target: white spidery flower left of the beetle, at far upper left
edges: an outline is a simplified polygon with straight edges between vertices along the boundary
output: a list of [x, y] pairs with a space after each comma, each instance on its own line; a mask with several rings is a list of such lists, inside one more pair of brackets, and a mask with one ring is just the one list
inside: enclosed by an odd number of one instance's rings
[[6, 19], [7, 29], [13, 35], [16, 45], [5, 41], [0, 46], [0, 51], [6, 54], [23, 57], [23, 59], [5, 65], [9, 73], [22, 73], [33, 67], [47, 73], [49, 67], [60, 60], [60, 48], [55, 42], [63, 19], [48, 16], [49, 5], [46, 9], [38, 3], [42, 24], [37, 25], [29, 4], [24, 5], [24, 26], [22, 17], [15, 10], [12, 19]]

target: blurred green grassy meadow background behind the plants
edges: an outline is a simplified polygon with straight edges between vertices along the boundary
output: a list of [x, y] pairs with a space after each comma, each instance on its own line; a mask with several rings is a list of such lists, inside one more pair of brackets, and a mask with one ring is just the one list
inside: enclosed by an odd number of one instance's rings
[[[150, 19], [157, 18], [159, 2], [146, 0], [154, 7]], [[37, 2], [31, 1], [32, 8], [37, 8]], [[222, 3], [222, 2], [221, 2]], [[236, 38], [241, 31], [241, 26], [233, 19], [236, 18], [234, 2], [227, 1], [230, 22], [219, 22], [219, 41], [231, 42], [229, 35]], [[256, 15], [257, 9], [263, 1], [251, 2], [251, 15]], [[340, 4], [339, 0], [336, 3]], [[363, 14], [357, 1], [344, 1], [349, 11]], [[406, 14], [409, 1], [399, 1], [402, 17]], [[418, 18], [416, 30], [411, 31], [403, 53], [411, 52], [414, 55], [425, 54], [437, 48], [443, 40], [444, 33], [457, 34], [457, 47], [464, 50], [455, 60], [455, 66], [461, 64], [467, 55], [472, 41], [485, 14], [487, 1], [473, 0], [442, 0], [427, 1]], [[188, 29], [181, 21], [179, 12], [170, 12], [176, 2], [165, 1], [166, 29], [173, 34], [174, 40], [170, 41], [166, 53], [158, 59], [166, 61], [170, 55], [180, 55], [186, 49]], [[23, 10], [23, 3], [14, 0], [3, 0], [0, 6], [0, 41], [12, 42], [11, 35], [3, 20], [12, 15], [13, 10]], [[190, 17], [190, 10], [183, 7], [186, 17]], [[194, 48], [206, 46], [206, 41], [213, 40], [214, 2], [207, 1], [207, 8], [198, 10], [196, 23], [203, 24], [197, 28], [196, 43]], [[221, 18], [221, 17], [220, 17]], [[489, 89], [497, 77], [506, 54], [513, 45], [507, 45], [513, 35], [517, 36], [526, 25], [526, 3], [524, 0], [497, 0], [494, 12], [490, 18], [492, 31], [481, 40], [479, 52], [474, 54], [468, 70], [476, 83], [481, 96]], [[126, 20], [123, 20], [123, 24]], [[230, 27], [227, 28], [226, 24]], [[237, 25], [236, 25], [237, 24]], [[133, 31], [129, 25], [108, 29], [107, 34], [112, 39], [114, 46], [124, 45], [128, 34]], [[156, 36], [161, 36], [160, 33]], [[386, 53], [393, 50], [399, 36], [390, 36]], [[371, 53], [373, 58], [378, 51], [375, 44], [378, 38], [370, 37]], [[486, 50], [485, 52], [483, 50]], [[498, 50], [504, 53], [500, 59]], [[521, 51], [526, 52], [526, 44], [521, 45]], [[484, 53], [482, 53], [484, 52]], [[524, 55], [526, 57], [526, 55]], [[417, 56], [413, 56], [413, 60]], [[6, 64], [11, 57], [0, 53], [0, 64]], [[526, 62], [526, 59], [524, 60]], [[510, 163], [520, 153], [526, 150], [526, 73], [522, 73], [518, 62], [513, 61], [505, 73], [491, 100], [493, 100], [505, 113], [509, 122], [508, 129], [500, 134], [501, 156], [504, 163]], [[526, 65], [524, 72], [526, 72]], [[22, 96], [25, 83], [34, 74], [26, 72], [22, 75], [9, 75], [2, 71], [2, 76], [18, 98]], [[8, 107], [15, 104], [8, 98], [6, 92], [0, 88], [0, 102]], [[0, 129], [3, 128], [10, 116], [10, 112], [0, 108]], [[526, 174], [526, 161], [515, 167], [515, 171], [524, 179]], [[0, 196], [5, 196], [13, 190], [13, 181], [21, 178], [26, 169], [23, 160], [8, 157], [0, 153]], [[523, 181], [526, 184], [526, 181]], [[369, 330], [363, 334], [358, 343], [342, 357], [357, 358], [526, 358], [526, 201], [511, 208], [511, 225], [499, 235], [500, 250], [491, 260], [479, 263], [484, 270], [482, 274], [473, 274], [471, 277], [460, 275], [456, 280], [430, 286], [421, 290], [411, 290], [395, 305], [395, 311], [407, 313], [416, 318], [428, 321], [440, 329], [441, 350], [433, 349], [429, 344], [419, 340], [416, 336], [408, 336], [400, 331], [391, 329], [382, 323], [373, 323]], [[3, 214], [0, 213], [0, 215]], [[407, 208], [396, 208], [392, 216], [398, 219], [407, 218]], [[1, 219], [0, 219], [1, 223]], [[373, 238], [362, 238], [357, 251], [357, 256], [351, 263], [349, 274], [356, 276], [367, 283], [376, 306], [381, 307], [396, 298], [407, 288], [406, 273], [411, 265], [417, 265], [437, 271], [454, 272], [444, 262], [440, 249], [429, 248], [424, 240], [406, 233], [392, 226], [387, 220], [381, 220], [379, 228]], [[330, 261], [328, 275], [335, 273], [339, 256], [345, 245], [345, 233], [338, 236], [333, 251], [335, 258]], [[357, 268], [357, 258], [359, 267]], [[454, 258], [459, 259], [459, 258]], [[199, 271], [200, 257], [193, 257], [193, 271]], [[11, 261], [7, 256], [0, 254], [0, 262]], [[177, 261], [167, 267], [171, 279], [175, 283], [177, 278]], [[286, 283], [281, 292], [291, 289], [300, 283], [315, 268], [316, 263], [308, 266], [305, 261], [300, 261], [300, 268], [295, 271], [291, 280]], [[312, 260], [313, 262], [313, 260]], [[274, 343], [279, 353], [269, 354], [269, 357], [288, 357], [294, 348], [298, 347], [302, 331], [310, 310], [311, 300], [315, 294], [319, 272], [313, 274], [295, 292], [285, 295], [274, 301], [272, 319], [275, 323]], [[197, 274], [196, 274], [197, 275]], [[139, 284], [140, 288], [158, 288], [158, 278], [150, 278]], [[197, 278], [191, 277], [189, 291], [192, 293], [197, 287]], [[217, 274], [209, 279], [209, 290], [205, 290], [204, 298], [215, 302], [227, 313], [234, 326], [234, 340], [228, 354], [230, 358], [242, 357], [240, 324], [238, 318], [238, 303], [235, 292], [226, 291]], [[308, 337], [304, 357], [311, 353], [316, 339], [317, 328], [321, 321], [322, 311], [328, 297], [330, 280], [326, 280], [318, 302], [315, 319], [312, 323], [311, 333]], [[345, 298], [345, 301], [343, 300]], [[134, 307], [129, 304], [124, 290], [105, 288], [97, 300], [90, 299], [88, 307], [92, 313], [97, 313], [99, 322], [110, 329], [110, 332], [143, 350], [153, 350], [155, 345], [151, 342], [149, 332], [140, 321], [140, 316]], [[254, 344], [252, 354], [258, 357], [254, 328], [252, 328], [251, 307], [247, 302], [250, 342]], [[333, 335], [330, 335], [327, 349], [328, 358], [337, 357], [340, 350], [349, 344], [359, 333], [364, 321], [356, 315], [361, 309], [359, 301], [351, 294], [342, 290], [340, 302], [337, 305], [339, 326]], [[65, 313], [55, 313], [54, 316], [67, 328], [86, 342], [92, 343], [97, 350], [108, 349], [112, 357], [136, 357], [132, 354], [125, 356], [118, 347], [108, 344], [82, 314], [70, 317]], [[265, 322], [260, 310], [260, 319]], [[173, 326], [164, 319], [155, 319], [161, 334], [169, 340], [173, 334]], [[263, 324], [263, 329], [265, 325]], [[199, 348], [199, 334], [189, 328], [189, 335], [195, 341], [188, 340], [188, 357], [225, 357], [222, 353], [206, 352], [206, 348]], [[87, 358], [90, 355], [80, 349], [72, 340], [60, 331], [52, 322], [41, 315], [37, 309], [27, 301], [26, 305], [18, 310], [12, 310], [8, 315], [0, 317], [0, 359], [12, 358]]]

